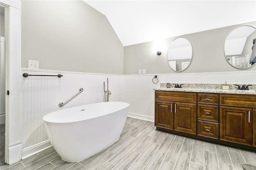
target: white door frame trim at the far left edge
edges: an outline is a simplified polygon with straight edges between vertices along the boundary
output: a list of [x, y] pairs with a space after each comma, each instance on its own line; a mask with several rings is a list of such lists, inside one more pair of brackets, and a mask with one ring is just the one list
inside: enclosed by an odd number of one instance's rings
[[[6, 114], [5, 162], [21, 160], [21, 1], [0, 0], [5, 7]], [[7, 95], [7, 90], [10, 95]]]

